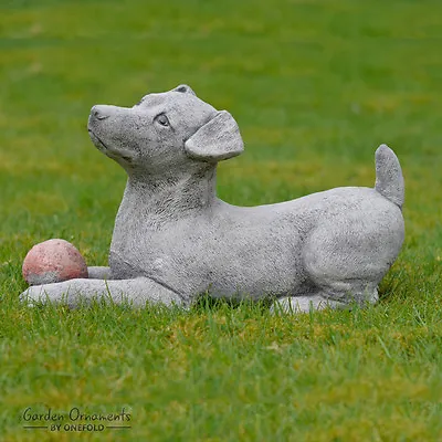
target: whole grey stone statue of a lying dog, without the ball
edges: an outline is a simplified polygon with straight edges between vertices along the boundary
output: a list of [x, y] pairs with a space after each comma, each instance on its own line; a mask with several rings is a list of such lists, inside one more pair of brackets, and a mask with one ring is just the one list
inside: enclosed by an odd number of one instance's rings
[[109, 267], [31, 286], [21, 299], [189, 306], [208, 293], [272, 296], [273, 309], [301, 312], [378, 299], [404, 236], [403, 178], [387, 146], [376, 151], [373, 189], [243, 208], [215, 193], [218, 161], [243, 151], [238, 125], [189, 86], [146, 95], [129, 108], [94, 106], [88, 131], [128, 175]]

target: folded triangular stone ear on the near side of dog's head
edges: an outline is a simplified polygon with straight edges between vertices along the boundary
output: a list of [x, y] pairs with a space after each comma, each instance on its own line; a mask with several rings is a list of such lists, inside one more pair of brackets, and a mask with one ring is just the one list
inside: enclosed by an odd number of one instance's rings
[[244, 144], [236, 122], [221, 110], [185, 143], [185, 150], [190, 158], [217, 162], [242, 154]]

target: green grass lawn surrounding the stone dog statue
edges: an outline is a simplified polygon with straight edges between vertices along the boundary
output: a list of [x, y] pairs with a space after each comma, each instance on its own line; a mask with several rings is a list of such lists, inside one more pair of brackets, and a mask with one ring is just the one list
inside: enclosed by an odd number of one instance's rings
[[[440, 1], [3, 0], [0, 18], [1, 441], [442, 440]], [[372, 186], [376, 147], [397, 151], [407, 238], [377, 306], [18, 303], [34, 243], [106, 264], [125, 176], [91, 106], [180, 83], [240, 125], [218, 187], [235, 204]], [[25, 430], [28, 407], [125, 407], [131, 429]]]

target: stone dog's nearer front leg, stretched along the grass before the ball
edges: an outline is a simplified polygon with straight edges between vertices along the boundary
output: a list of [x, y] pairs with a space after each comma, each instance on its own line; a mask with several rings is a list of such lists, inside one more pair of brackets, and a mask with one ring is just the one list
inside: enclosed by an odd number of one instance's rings
[[20, 295], [20, 301], [29, 304], [63, 303], [70, 307], [91, 303], [91, 301], [109, 301], [115, 304], [128, 302], [133, 306], [146, 303], [166, 306], [186, 306], [183, 296], [148, 277], [133, 280], [70, 280], [62, 283], [33, 285]]

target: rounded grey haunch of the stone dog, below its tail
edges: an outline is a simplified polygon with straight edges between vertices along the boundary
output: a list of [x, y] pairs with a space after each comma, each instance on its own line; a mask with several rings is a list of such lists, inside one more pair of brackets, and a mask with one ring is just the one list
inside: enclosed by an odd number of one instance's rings
[[[313, 293], [343, 304], [375, 304], [377, 287], [403, 239], [400, 210], [377, 199], [375, 210], [324, 221], [306, 239], [304, 269]], [[373, 202], [373, 204], [375, 204]]]

